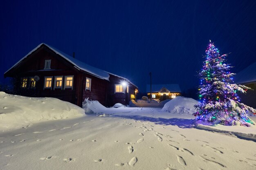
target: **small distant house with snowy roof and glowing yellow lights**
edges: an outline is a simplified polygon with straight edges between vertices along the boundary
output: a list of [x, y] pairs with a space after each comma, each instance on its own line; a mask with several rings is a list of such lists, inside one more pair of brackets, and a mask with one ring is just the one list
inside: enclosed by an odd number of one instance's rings
[[[148, 98], [150, 99], [150, 84], [147, 84]], [[181, 95], [179, 84], [152, 84], [152, 99], [173, 99]]]

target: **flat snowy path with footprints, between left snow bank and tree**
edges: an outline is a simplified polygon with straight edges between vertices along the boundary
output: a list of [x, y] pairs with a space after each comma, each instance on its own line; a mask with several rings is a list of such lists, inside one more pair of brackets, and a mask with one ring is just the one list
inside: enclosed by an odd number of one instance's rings
[[157, 108], [138, 109], [1, 132], [0, 169], [256, 169], [254, 141], [193, 128], [193, 117], [159, 114]]

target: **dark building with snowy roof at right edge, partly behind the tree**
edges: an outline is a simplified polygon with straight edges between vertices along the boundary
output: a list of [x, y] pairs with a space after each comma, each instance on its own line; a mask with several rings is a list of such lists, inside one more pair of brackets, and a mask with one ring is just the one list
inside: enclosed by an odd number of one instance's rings
[[256, 108], [256, 62], [243, 69], [234, 76], [236, 84], [245, 85], [252, 90], [248, 90], [246, 94], [239, 94], [241, 103]]

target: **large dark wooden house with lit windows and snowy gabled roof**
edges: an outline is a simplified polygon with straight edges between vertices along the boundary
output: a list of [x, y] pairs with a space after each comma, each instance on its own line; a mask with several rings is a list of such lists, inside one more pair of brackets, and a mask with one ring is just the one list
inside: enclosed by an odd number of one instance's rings
[[14, 78], [18, 95], [56, 97], [78, 106], [87, 97], [104, 106], [128, 104], [138, 89], [124, 77], [80, 62], [44, 43], [14, 64], [4, 77]]

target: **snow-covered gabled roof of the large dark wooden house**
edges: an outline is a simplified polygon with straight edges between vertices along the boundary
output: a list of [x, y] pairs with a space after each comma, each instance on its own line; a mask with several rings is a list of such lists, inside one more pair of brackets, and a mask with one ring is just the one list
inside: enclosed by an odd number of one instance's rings
[[[120, 77], [120, 78], [123, 78], [123, 79], [126, 79], [124, 77], [121, 77], [121, 76], [118, 76], [118, 75], [115, 75], [115, 74], [112, 74], [112, 73], [109, 73], [107, 71], [103, 71], [99, 68], [95, 68], [93, 66], [90, 66], [88, 64], [85, 64], [79, 60], [76, 60], [75, 58], [71, 57], [70, 55], [67, 55], [66, 53], [50, 46], [50, 45], [47, 45], [45, 43], [41, 43], [39, 44], [36, 48], [34, 48], [32, 51], [30, 51], [27, 55], [25, 55], [24, 57], [22, 57], [22, 59], [20, 59], [16, 64], [14, 64], [11, 68], [15, 67], [16, 65], [18, 65], [20, 62], [22, 62], [27, 56], [29, 56], [31, 53], [33, 53], [34, 51], [36, 51], [40, 46], [42, 45], [45, 45], [47, 46], [49, 49], [51, 49], [52, 51], [54, 51], [56, 54], [60, 55], [61, 57], [65, 58], [67, 61], [69, 61], [70, 63], [74, 64], [74, 66], [76, 68], [79, 68], [83, 71], [86, 71], [92, 75], [95, 75], [96, 77], [99, 77], [101, 79], [106, 79], [106, 80], [109, 80], [109, 76], [110, 74], [111, 75], [114, 75], [114, 76], [117, 76], [117, 77]], [[9, 68], [9, 70], [11, 70], [11, 68]], [[7, 73], [9, 70], [7, 70], [5, 73]], [[5, 74], [4, 73], [4, 74]], [[130, 82], [128, 79], [126, 79], [127, 82]], [[132, 82], [130, 82], [131, 84], [133, 84]], [[133, 84], [134, 86], [136, 86], [135, 84]], [[137, 86], [136, 86], [137, 87]], [[138, 88], [138, 87], [137, 87]]]

